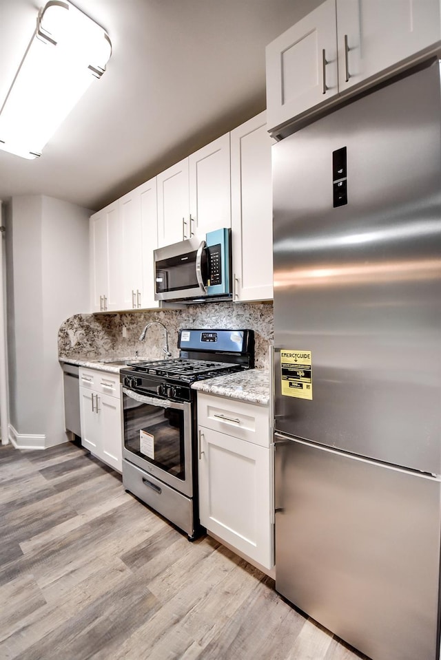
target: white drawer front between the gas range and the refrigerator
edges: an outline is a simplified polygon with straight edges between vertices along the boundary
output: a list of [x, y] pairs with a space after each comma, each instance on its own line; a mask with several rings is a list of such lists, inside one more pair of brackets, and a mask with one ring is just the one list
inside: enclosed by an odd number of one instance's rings
[[266, 406], [198, 392], [198, 424], [269, 447], [269, 410]]

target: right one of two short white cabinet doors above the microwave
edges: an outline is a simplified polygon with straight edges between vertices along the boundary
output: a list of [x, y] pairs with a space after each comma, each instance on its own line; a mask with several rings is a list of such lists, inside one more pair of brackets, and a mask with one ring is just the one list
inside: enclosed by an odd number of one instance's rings
[[190, 232], [231, 227], [229, 133], [189, 156]]

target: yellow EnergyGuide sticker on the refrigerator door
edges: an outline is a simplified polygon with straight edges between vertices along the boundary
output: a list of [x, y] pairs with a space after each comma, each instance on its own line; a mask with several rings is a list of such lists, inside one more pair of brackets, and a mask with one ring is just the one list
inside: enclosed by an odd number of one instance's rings
[[280, 350], [283, 396], [312, 400], [312, 359], [310, 350]]

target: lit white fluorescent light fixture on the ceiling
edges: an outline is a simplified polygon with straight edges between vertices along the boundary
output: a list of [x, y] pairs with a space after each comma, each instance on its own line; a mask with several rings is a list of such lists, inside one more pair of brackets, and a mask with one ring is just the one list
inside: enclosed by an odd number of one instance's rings
[[46, 3], [0, 108], [0, 149], [41, 156], [94, 78], [101, 78], [111, 52], [103, 28], [70, 2]]

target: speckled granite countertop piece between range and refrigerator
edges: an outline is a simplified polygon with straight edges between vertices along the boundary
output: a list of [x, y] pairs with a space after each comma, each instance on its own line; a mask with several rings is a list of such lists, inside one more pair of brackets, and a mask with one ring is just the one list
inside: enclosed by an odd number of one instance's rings
[[207, 381], [193, 383], [193, 390], [206, 394], [217, 394], [236, 398], [247, 403], [269, 403], [269, 372], [264, 369], [249, 369], [236, 374], [218, 376]]

